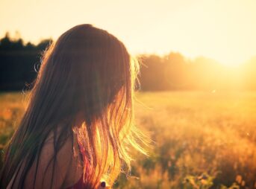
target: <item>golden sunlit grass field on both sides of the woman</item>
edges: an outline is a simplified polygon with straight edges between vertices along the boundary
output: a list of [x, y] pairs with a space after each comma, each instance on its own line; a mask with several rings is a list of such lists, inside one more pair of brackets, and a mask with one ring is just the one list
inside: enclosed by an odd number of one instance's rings
[[[0, 147], [23, 98], [0, 95]], [[256, 92], [141, 92], [135, 113], [154, 144], [115, 188], [256, 188]]]

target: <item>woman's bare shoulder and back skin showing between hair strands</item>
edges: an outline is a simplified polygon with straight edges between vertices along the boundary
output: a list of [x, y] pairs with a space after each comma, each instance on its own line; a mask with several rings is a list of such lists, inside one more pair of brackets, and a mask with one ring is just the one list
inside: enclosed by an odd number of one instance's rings
[[[56, 160], [54, 160], [54, 134], [51, 132], [43, 144], [38, 164], [34, 161], [28, 171], [24, 188], [51, 188], [51, 182], [52, 188], [81, 187], [83, 183], [83, 164], [78, 145], [76, 137], [73, 139], [69, 137], [58, 151]], [[71, 153], [72, 151], [74, 153]], [[53, 161], [56, 161], [54, 167]], [[24, 159], [7, 188], [19, 188], [19, 177], [26, 163]], [[52, 179], [51, 176], [53, 176]]]

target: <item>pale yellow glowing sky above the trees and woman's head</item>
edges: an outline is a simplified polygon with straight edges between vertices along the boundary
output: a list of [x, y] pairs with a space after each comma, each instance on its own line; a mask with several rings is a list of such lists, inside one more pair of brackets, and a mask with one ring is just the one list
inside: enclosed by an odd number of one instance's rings
[[0, 36], [40, 42], [89, 23], [131, 54], [179, 52], [239, 65], [256, 56], [256, 0], [0, 0]]

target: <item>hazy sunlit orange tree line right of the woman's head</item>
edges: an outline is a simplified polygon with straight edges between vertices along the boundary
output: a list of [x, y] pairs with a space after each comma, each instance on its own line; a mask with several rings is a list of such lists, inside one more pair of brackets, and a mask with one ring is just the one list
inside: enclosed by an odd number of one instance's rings
[[207, 57], [188, 59], [171, 52], [163, 57], [141, 55], [141, 89], [162, 90], [255, 90], [256, 57], [237, 67]]

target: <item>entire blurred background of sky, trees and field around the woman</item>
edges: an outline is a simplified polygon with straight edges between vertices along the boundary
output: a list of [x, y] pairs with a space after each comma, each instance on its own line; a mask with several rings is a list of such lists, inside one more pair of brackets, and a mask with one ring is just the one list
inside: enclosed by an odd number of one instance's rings
[[0, 1], [0, 148], [50, 42], [89, 23], [140, 60], [154, 143], [114, 188], [256, 188], [256, 1]]

